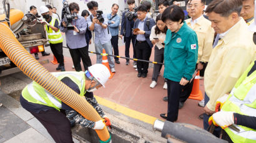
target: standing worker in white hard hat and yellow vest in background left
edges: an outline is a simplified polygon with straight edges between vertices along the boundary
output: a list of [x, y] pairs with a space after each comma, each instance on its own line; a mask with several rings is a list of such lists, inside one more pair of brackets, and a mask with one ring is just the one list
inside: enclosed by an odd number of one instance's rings
[[59, 30], [59, 22], [56, 17], [52, 17], [49, 14], [49, 9], [46, 6], [41, 6], [39, 8], [39, 12], [41, 13], [42, 17], [45, 19], [42, 21], [46, 24], [46, 31], [50, 43], [50, 47], [54, 57], [56, 57], [57, 62], [59, 63], [56, 70], [65, 71], [64, 67], [64, 56], [63, 56], [63, 49], [62, 49], [62, 35], [61, 31]]

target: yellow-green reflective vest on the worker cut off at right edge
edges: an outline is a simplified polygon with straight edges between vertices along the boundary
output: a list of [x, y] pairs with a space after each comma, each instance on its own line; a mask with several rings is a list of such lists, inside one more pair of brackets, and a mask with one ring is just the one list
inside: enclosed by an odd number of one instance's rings
[[[232, 89], [229, 98], [222, 107], [223, 111], [234, 111], [247, 116], [256, 116], [256, 71], [247, 76], [254, 66], [254, 62], [245, 70]], [[233, 142], [256, 142], [256, 130], [245, 126], [235, 125], [240, 132], [230, 127], [225, 128]]]

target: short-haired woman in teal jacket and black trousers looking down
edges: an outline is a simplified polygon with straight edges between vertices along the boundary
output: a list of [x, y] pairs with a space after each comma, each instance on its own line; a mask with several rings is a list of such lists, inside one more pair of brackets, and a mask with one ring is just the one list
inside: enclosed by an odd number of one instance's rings
[[167, 7], [162, 21], [168, 27], [164, 50], [164, 78], [167, 79], [168, 110], [160, 114], [167, 121], [177, 121], [179, 98], [182, 88], [189, 83], [197, 63], [197, 34], [184, 21], [184, 12], [179, 6]]

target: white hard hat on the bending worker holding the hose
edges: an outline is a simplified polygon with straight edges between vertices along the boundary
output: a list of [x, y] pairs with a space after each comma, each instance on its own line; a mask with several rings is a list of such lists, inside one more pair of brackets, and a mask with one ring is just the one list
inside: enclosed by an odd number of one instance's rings
[[99, 83], [101, 83], [101, 85], [105, 88], [105, 83], [111, 76], [109, 69], [101, 63], [96, 63], [95, 65], [88, 67], [88, 70], [92, 76], [94, 76], [94, 78], [99, 81]]

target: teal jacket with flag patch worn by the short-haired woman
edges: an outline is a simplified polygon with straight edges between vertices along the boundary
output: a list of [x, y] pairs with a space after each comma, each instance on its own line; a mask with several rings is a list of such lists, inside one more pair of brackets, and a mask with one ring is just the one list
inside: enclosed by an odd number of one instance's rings
[[169, 29], [164, 41], [164, 78], [179, 82], [192, 78], [198, 55], [197, 34], [184, 22], [175, 33]]

